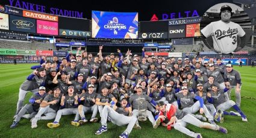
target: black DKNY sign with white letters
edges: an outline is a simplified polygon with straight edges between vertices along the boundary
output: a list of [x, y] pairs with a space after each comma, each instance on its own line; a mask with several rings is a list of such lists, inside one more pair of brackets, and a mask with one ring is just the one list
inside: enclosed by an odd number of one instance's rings
[[169, 38], [184, 38], [186, 25], [169, 26]]

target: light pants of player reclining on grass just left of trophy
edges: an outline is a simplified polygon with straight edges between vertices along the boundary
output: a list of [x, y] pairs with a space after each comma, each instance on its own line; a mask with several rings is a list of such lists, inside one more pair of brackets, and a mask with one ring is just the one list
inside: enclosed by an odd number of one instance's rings
[[116, 124], [118, 126], [128, 124], [128, 126], [125, 130], [126, 132], [128, 132], [128, 134], [131, 133], [131, 130], [133, 130], [133, 126], [137, 121], [137, 118], [134, 116], [125, 116], [125, 115], [117, 113], [110, 106], [104, 106], [104, 108], [102, 110], [101, 125], [107, 126], [108, 116], [111, 118], [111, 122], [113, 124]]

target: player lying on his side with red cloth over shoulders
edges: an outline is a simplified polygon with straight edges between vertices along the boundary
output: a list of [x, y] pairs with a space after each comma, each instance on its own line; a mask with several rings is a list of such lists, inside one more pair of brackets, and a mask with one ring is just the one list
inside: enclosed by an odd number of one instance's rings
[[187, 124], [189, 123], [195, 125], [196, 127], [218, 130], [225, 134], [228, 133], [226, 128], [220, 127], [219, 125], [210, 124], [208, 122], [201, 122], [193, 115], [178, 109], [173, 104], [165, 104], [164, 102], [160, 101], [158, 103], [158, 107], [160, 109], [160, 113], [156, 121], [157, 125], [160, 125], [160, 122], [162, 122], [162, 125], [166, 126], [168, 130], [170, 130], [171, 127], [174, 127], [175, 130], [181, 131], [190, 137], [202, 137], [200, 133], [194, 133], [186, 128]]

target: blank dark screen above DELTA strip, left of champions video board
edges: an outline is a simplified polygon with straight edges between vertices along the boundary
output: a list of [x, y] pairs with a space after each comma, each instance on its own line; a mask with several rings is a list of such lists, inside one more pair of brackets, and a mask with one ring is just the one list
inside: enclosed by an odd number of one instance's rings
[[90, 20], [58, 17], [58, 28], [90, 32]]

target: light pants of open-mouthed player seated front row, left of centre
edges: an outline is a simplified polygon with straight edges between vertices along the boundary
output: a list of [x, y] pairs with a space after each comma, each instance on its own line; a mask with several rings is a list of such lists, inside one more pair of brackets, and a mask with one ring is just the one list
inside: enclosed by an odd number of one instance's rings
[[77, 108], [64, 108], [64, 109], [60, 109], [57, 112], [56, 118], [54, 120], [54, 122], [60, 122], [60, 118], [61, 115], [72, 115], [75, 114], [75, 121], [78, 121], [78, 119], [80, 118], [79, 113], [78, 113], [78, 109]]

